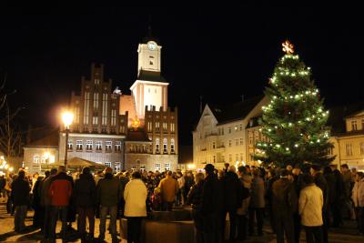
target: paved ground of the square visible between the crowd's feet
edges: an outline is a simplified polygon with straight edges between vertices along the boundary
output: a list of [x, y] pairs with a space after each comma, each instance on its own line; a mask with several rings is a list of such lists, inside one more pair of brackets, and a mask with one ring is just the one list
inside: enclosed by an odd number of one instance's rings
[[[39, 232], [39, 229], [31, 228], [32, 225], [32, 215], [33, 212], [28, 211], [27, 218], [25, 220], [25, 225], [27, 226], [27, 230], [23, 234], [17, 234], [14, 231], [14, 217], [10, 216], [5, 211], [5, 205], [0, 205], [0, 241], [1, 242], [41, 242], [42, 235]], [[248, 238], [242, 242], [248, 243], [273, 243], [276, 242], [276, 237], [273, 234], [270, 234], [270, 229], [268, 228], [268, 222], [265, 222], [266, 228], [264, 228], [264, 236], [258, 237], [253, 236]], [[95, 236], [98, 236], [98, 225], [99, 220], [96, 218], [95, 224]], [[347, 221], [346, 226], [343, 228], [330, 228], [329, 229], [329, 242], [330, 243], [346, 243], [346, 242], [364, 242], [364, 237], [356, 234], [357, 230], [355, 228], [354, 221]], [[76, 227], [76, 223], [74, 223], [74, 227]], [[61, 224], [58, 221], [57, 231], [59, 232], [61, 229]], [[117, 232], [120, 232], [119, 225], [117, 224]], [[70, 234], [70, 240], [68, 242], [81, 242], [79, 238], [77, 238], [76, 231], [72, 231]], [[57, 239], [57, 242], [61, 242], [60, 239]], [[106, 242], [111, 242], [111, 236], [106, 233]], [[126, 243], [125, 240], [120, 241], [122, 243]], [[301, 233], [300, 242], [306, 242], [305, 234]]]

